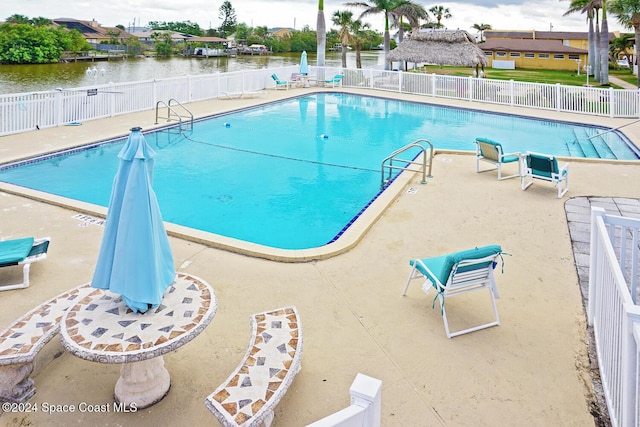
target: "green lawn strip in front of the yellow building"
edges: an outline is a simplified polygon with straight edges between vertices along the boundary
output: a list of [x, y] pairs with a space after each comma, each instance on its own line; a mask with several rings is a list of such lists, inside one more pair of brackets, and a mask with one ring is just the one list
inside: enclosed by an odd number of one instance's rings
[[[428, 65], [425, 67], [421, 67], [416, 71], [426, 72], [426, 73], [435, 73], [435, 74], [444, 74], [444, 75], [452, 75], [452, 76], [472, 76], [475, 71], [474, 68], [470, 67], [449, 67], [444, 66], [440, 67], [438, 65]], [[532, 82], [532, 83], [546, 83], [546, 84], [555, 84], [560, 83], [567, 86], [584, 86], [587, 84], [587, 76], [580, 72], [580, 75], [577, 75], [576, 71], [556, 71], [556, 70], [525, 70], [525, 69], [516, 69], [516, 70], [499, 70], [494, 68], [485, 68], [484, 70], [485, 78], [494, 79], [494, 80], [517, 80], [521, 82]], [[610, 70], [610, 75], [615, 75], [618, 78], [621, 78], [630, 83], [636, 84], [637, 78], [629, 70]], [[631, 78], [631, 80], [628, 80]], [[593, 81], [593, 77], [589, 78], [589, 84], [593, 86], [597, 86], [598, 82]], [[615, 84], [612, 84], [611, 87], [620, 88]]]

